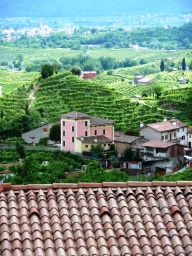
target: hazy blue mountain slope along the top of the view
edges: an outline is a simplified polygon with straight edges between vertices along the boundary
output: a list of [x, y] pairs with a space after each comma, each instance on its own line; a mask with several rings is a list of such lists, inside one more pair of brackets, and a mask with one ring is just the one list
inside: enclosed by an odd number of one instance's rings
[[1, 17], [98, 17], [192, 13], [191, 0], [1, 0]]

